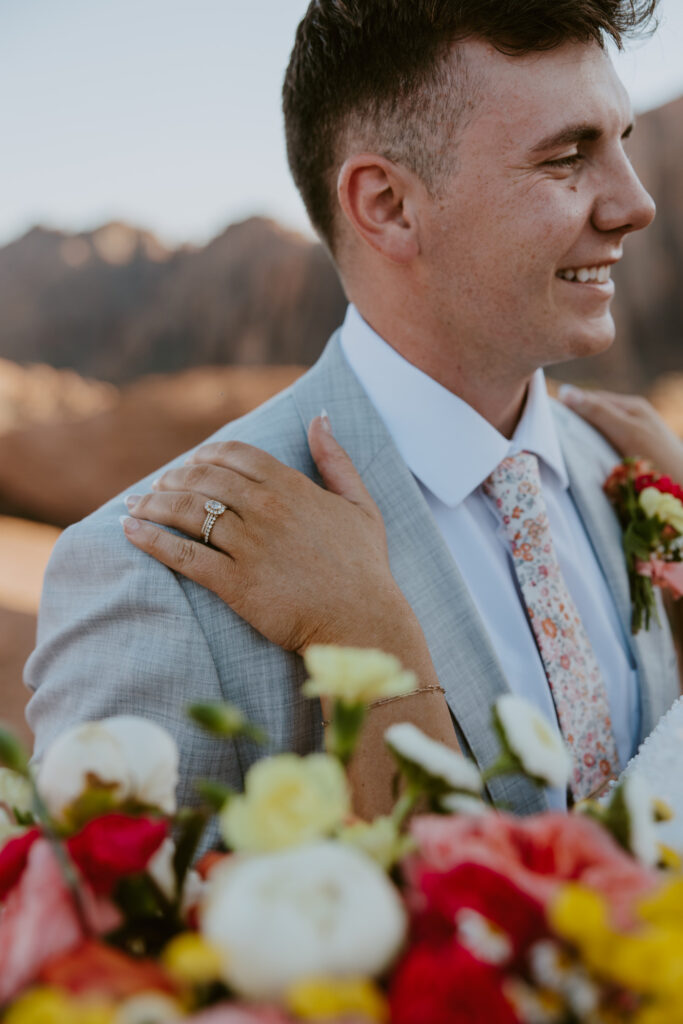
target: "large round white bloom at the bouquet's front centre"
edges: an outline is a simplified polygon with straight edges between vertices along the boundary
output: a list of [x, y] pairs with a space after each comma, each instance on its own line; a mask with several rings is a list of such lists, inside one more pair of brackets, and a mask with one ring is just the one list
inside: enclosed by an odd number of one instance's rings
[[224, 950], [225, 982], [254, 999], [305, 978], [376, 977], [405, 928], [384, 871], [332, 840], [217, 864], [201, 911], [202, 933]]

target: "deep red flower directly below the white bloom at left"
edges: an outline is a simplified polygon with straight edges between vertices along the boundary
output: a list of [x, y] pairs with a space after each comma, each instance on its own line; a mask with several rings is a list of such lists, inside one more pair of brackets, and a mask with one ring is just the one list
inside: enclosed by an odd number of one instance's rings
[[120, 878], [144, 870], [167, 833], [164, 820], [105, 814], [73, 836], [67, 849], [94, 891], [109, 895]]

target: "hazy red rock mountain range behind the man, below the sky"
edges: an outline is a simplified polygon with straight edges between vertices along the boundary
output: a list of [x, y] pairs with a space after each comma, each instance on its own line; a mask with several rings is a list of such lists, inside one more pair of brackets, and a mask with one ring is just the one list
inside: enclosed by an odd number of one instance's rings
[[[683, 370], [683, 97], [641, 117], [629, 144], [658, 216], [615, 268], [620, 340], [554, 373], [643, 390]], [[252, 218], [177, 250], [120, 223], [34, 228], [0, 249], [0, 357], [124, 383], [205, 365], [309, 365], [344, 297], [321, 246]]]

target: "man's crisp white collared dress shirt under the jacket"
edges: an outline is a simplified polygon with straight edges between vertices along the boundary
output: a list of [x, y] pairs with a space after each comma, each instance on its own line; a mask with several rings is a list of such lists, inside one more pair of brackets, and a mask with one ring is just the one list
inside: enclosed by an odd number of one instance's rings
[[[624, 766], [640, 733], [637, 675], [607, 583], [571, 498], [543, 371], [531, 380], [522, 417], [509, 440], [471, 406], [408, 362], [352, 305], [342, 327], [341, 345], [422, 488], [511, 690], [557, 726], [512, 554], [481, 489], [507, 456], [524, 451], [538, 457], [555, 550], [602, 671]], [[548, 797], [551, 806], [565, 804], [562, 793], [549, 791]]]

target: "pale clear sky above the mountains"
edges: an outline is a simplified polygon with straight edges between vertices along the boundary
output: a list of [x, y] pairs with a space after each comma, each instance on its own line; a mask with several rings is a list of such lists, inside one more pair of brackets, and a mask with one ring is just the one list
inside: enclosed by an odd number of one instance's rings
[[[124, 219], [203, 243], [254, 213], [304, 229], [280, 90], [307, 0], [0, 0], [0, 245]], [[683, 3], [617, 68], [683, 93]]]

